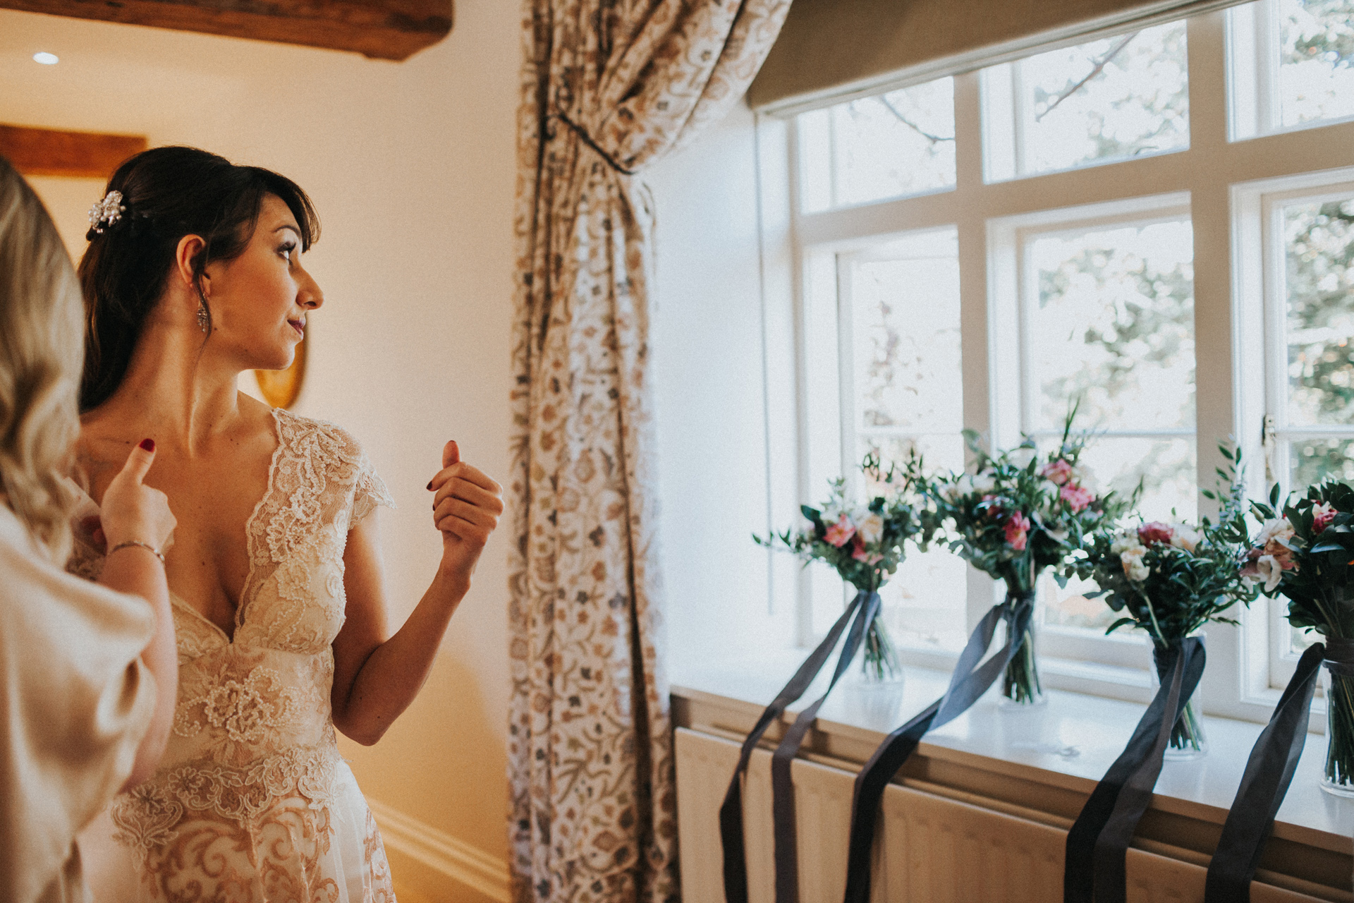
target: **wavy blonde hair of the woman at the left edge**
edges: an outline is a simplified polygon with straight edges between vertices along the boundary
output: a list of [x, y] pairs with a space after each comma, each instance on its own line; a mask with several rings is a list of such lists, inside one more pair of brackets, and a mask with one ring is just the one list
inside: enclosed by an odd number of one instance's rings
[[0, 157], [0, 490], [64, 565], [80, 433], [84, 302], [61, 236], [32, 188]]

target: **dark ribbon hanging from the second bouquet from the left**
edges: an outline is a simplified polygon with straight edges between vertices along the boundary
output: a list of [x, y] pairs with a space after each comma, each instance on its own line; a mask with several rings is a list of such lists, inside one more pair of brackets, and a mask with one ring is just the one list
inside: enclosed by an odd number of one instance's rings
[[[856, 776], [852, 793], [850, 849], [846, 860], [846, 903], [869, 903], [871, 850], [875, 846], [875, 823], [884, 788], [913, 754], [922, 736], [941, 724], [963, 715], [978, 701], [1006, 666], [1016, 658], [1025, 642], [1029, 620], [1034, 611], [1034, 593], [1007, 596], [994, 605], [968, 638], [959, 655], [949, 689], [927, 705], [919, 715], [884, 738], [875, 754]], [[997, 624], [1006, 623], [1006, 644], [986, 662], [982, 661], [991, 646]], [[779, 876], [777, 876], [779, 879]], [[777, 895], [777, 903], [781, 903]]]

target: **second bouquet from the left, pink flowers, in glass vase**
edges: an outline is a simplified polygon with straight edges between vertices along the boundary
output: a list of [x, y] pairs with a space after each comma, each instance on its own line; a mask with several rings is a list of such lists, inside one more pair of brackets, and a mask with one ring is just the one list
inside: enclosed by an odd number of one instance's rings
[[[1034, 441], [988, 455], [978, 433], [964, 432], [975, 458], [974, 472], [933, 478], [926, 494], [946, 524], [949, 548], [974, 567], [1006, 583], [1013, 608], [1034, 604], [1034, 585], [1045, 567], [1066, 585], [1071, 552], [1085, 537], [1113, 523], [1128, 504], [1116, 493], [1097, 494], [1080, 467], [1085, 433], [1072, 433], [1067, 417], [1057, 448], [1040, 456]], [[1002, 677], [1002, 695], [1011, 704], [1044, 701], [1034, 663], [1033, 627], [1025, 631], [1020, 654]]]

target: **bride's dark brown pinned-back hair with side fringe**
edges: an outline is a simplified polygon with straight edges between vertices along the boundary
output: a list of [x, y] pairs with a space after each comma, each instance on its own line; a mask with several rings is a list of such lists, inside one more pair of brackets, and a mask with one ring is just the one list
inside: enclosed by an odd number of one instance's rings
[[100, 223], [102, 232], [89, 230], [89, 248], [80, 260], [85, 299], [81, 412], [97, 408], [122, 384], [184, 236], [203, 241], [192, 261], [199, 292], [207, 264], [244, 253], [267, 195], [282, 199], [297, 218], [302, 250], [320, 238], [320, 218], [297, 183], [196, 148], [144, 150], [118, 167], [107, 191], [122, 192], [125, 211], [116, 222]]

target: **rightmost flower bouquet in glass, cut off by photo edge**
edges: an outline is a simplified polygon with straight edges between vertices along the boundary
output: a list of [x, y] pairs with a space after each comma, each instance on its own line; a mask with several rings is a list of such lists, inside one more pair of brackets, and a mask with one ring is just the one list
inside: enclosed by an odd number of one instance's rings
[[1354, 487], [1334, 479], [1278, 510], [1254, 502], [1262, 521], [1242, 567], [1269, 597], [1288, 597], [1288, 623], [1326, 639], [1327, 753], [1322, 787], [1354, 796]]

